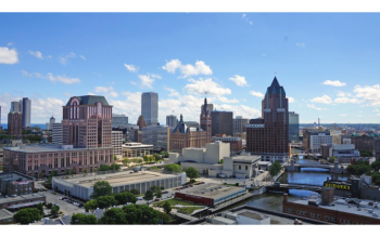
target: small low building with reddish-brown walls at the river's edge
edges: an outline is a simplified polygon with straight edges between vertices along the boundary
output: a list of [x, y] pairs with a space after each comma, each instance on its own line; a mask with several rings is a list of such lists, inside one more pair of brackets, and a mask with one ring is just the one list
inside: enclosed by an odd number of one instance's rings
[[219, 184], [201, 184], [176, 193], [176, 198], [195, 203], [216, 206], [246, 193], [245, 188]]

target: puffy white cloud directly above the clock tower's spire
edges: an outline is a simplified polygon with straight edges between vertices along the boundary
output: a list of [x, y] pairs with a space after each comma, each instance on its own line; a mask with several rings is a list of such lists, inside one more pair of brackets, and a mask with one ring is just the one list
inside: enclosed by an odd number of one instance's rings
[[185, 85], [183, 91], [189, 94], [204, 94], [207, 92], [210, 95], [226, 95], [231, 94], [231, 90], [228, 88], [223, 88], [220, 84], [213, 81], [212, 78], [199, 80], [189, 79], [191, 83]]

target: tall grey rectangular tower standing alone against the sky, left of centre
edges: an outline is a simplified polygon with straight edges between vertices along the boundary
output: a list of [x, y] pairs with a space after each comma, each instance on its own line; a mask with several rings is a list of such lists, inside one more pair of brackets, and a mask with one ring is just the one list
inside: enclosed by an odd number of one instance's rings
[[141, 115], [144, 117], [147, 126], [159, 124], [157, 93], [144, 92], [141, 94]]

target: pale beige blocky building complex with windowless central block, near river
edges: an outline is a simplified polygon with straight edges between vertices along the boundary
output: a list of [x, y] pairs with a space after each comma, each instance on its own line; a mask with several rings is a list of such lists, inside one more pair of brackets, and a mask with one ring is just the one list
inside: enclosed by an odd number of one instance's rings
[[169, 163], [180, 163], [183, 169], [193, 167], [203, 175], [251, 179], [258, 174], [261, 156], [230, 157], [230, 144], [216, 141], [205, 148], [183, 148], [182, 155], [169, 153]]

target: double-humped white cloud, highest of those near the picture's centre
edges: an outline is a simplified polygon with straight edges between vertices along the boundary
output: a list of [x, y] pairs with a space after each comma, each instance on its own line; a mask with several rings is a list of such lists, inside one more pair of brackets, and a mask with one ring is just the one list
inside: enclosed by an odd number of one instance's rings
[[179, 60], [172, 60], [169, 62], [166, 61], [166, 64], [162, 66], [162, 69], [170, 74], [175, 74], [176, 70], [179, 69], [180, 74], [182, 75], [181, 78], [213, 74], [213, 70], [203, 61], [197, 61], [194, 65], [183, 65]]

